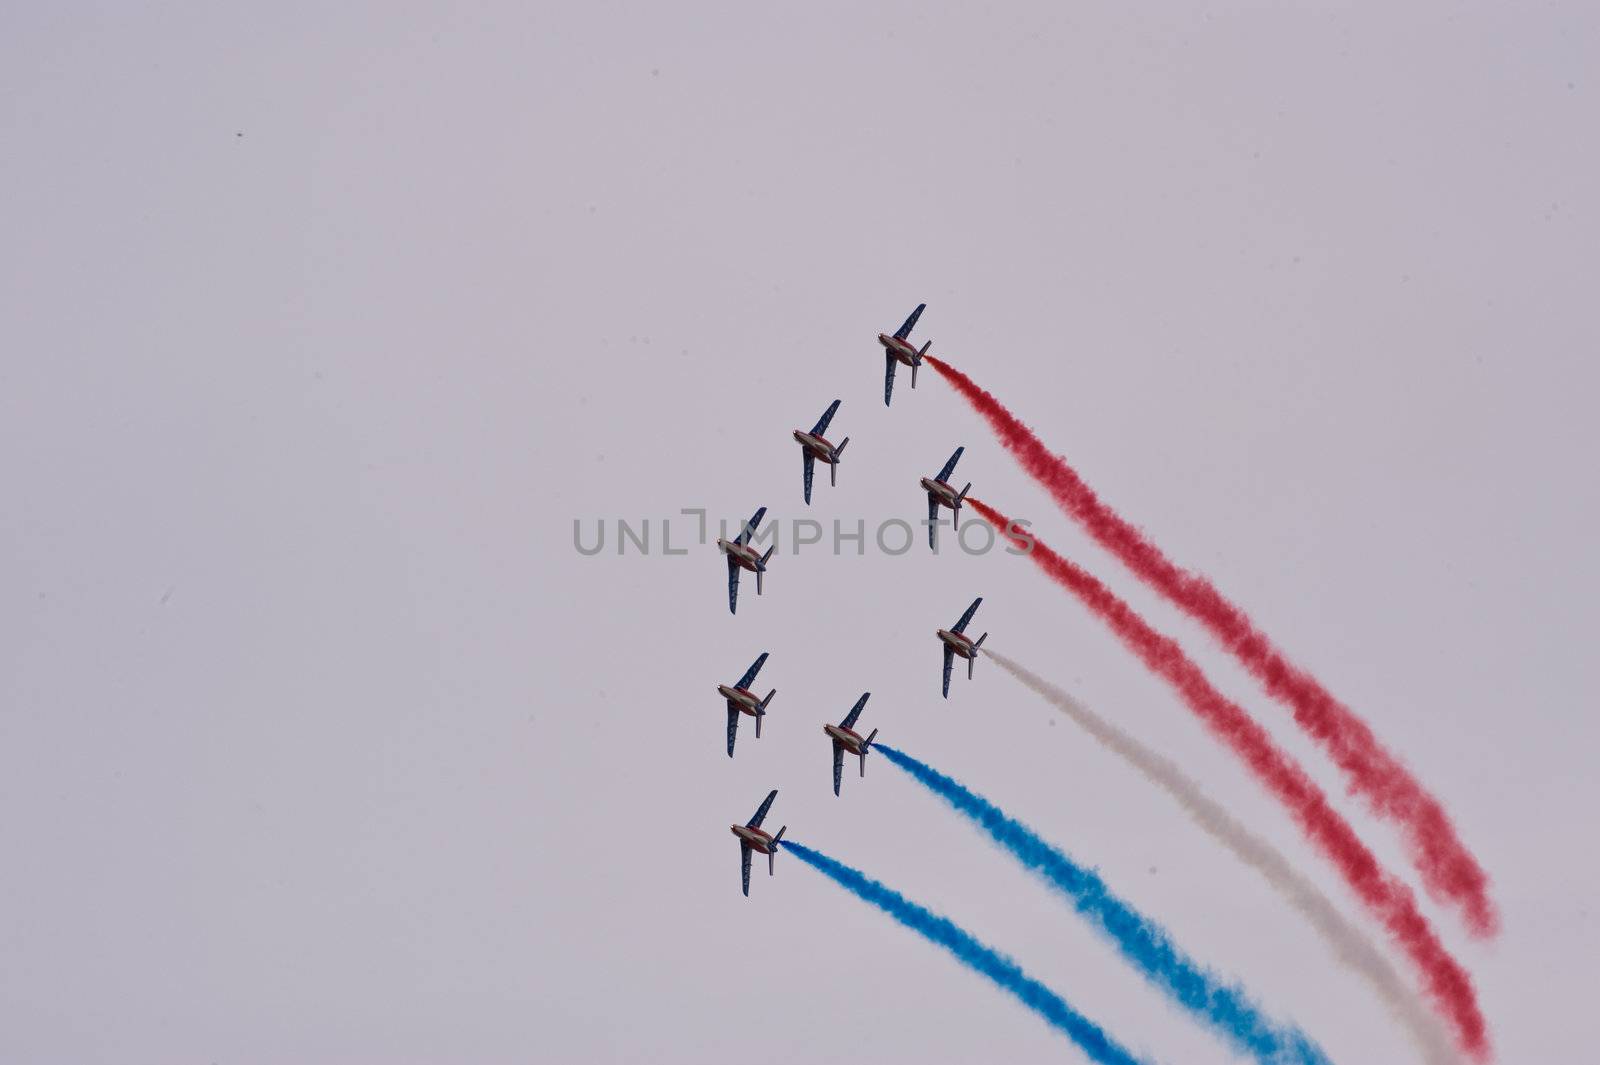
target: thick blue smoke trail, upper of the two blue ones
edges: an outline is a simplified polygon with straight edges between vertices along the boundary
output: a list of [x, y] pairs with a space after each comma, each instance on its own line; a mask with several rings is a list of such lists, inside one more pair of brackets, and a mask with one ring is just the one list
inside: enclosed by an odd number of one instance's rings
[[994, 803], [968, 792], [933, 766], [883, 742], [872, 747], [966, 814], [1018, 862], [1066, 894], [1078, 913], [1093, 919], [1150, 982], [1206, 1020], [1234, 1046], [1262, 1062], [1328, 1065], [1326, 1054], [1306, 1033], [1293, 1027], [1282, 1028], [1262, 1017], [1243, 990], [1222, 983], [1184, 956], [1158, 924], [1114, 895], [1093, 870], [1083, 868], [1040, 840], [1027, 825], [1006, 817]]

